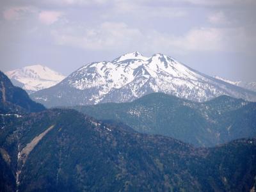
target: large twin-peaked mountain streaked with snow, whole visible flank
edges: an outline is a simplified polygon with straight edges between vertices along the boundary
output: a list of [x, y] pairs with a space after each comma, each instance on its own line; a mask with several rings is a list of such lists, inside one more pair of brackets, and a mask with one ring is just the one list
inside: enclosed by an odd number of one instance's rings
[[164, 54], [150, 58], [140, 52], [113, 61], [88, 63], [61, 83], [33, 93], [45, 106], [129, 102], [152, 92], [205, 101], [219, 95], [256, 100], [256, 93], [206, 76]]

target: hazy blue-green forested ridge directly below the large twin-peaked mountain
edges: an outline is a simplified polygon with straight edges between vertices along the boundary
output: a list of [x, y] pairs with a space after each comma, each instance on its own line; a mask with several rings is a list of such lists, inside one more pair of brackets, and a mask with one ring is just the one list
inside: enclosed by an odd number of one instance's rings
[[199, 103], [151, 93], [129, 103], [73, 108], [95, 118], [118, 120], [139, 132], [171, 136], [196, 146], [256, 136], [256, 103], [228, 96]]

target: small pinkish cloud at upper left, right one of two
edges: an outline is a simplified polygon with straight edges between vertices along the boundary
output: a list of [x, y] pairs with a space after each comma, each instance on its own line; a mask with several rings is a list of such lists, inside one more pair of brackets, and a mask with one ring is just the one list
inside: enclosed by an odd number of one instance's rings
[[49, 24], [53, 24], [54, 22], [58, 21], [61, 16], [63, 16], [62, 12], [42, 11], [39, 13], [38, 18], [39, 18], [40, 22], [49, 25]]

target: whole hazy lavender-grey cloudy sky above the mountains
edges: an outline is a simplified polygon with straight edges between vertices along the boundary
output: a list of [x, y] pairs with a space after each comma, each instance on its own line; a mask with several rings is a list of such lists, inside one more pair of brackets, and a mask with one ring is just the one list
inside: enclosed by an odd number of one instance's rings
[[209, 75], [256, 81], [255, 0], [1, 0], [0, 70], [70, 74], [161, 52]]

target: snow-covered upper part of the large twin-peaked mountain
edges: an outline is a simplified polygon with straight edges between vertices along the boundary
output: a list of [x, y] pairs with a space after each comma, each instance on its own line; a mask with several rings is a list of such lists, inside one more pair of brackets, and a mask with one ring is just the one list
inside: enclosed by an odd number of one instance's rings
[[[199, 76], [170, 56], [154, 54], [152, 57], [146, 58], [139, 52], [132, 52], [124, 54], [112, 62], [102, 61], [86, 64], [68, 76], [66, 81], [70, 86], [79, 90], [100, 86], [104, 90], [103, 94], [113, 88], [122, 88], [139, 77], [159, 79], [160, 83], [161, 81], [170, 81], [174, 77], [182, 81], [182, 79], [196, 80], [196, 77]], [[166, 79], [161, 80], [161, 78]]]

